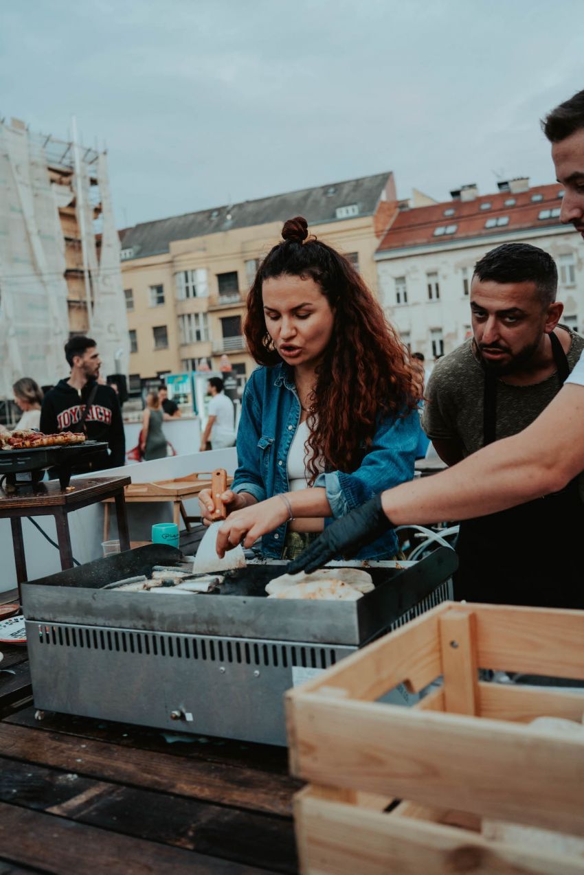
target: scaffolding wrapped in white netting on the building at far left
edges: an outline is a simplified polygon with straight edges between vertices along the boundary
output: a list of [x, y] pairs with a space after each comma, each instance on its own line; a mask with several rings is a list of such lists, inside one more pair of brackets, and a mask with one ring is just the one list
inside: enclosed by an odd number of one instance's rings
[[63, 346], [95, 338], [127, 374], [128, 325], [105, 152], [0, 122], [0, 398], [67, 374]]

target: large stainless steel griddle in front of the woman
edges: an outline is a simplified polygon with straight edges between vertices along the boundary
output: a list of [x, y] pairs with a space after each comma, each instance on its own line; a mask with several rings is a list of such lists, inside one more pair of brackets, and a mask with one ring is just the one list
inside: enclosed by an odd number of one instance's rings
[[373, 578], [356, 601], [267, 598], [275, 560], [207, 594], [102, 589], [181, 559], [151, 544], [23, 584], [37, 708], [285, 745], [285, 690], [449, 598], [457, 565], [443, 547], [404, 569], [338, 563]]

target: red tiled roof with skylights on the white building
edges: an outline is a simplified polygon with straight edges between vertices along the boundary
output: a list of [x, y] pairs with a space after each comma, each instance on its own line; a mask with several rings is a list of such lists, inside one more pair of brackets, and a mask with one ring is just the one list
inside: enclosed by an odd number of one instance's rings
[[[524, 192], [497, 192], [484, 194], [475, 200], [447, 200], [432, 207], [414, 207], [404, 210], [396, 216], [391, 228], [383, 236], [377, 247], [377, 253], [391, 252], [395, 249], [405, 249], [419, 246], [447, 247], [454, 241], [468, 237], [485, 237], [501, 235], [502, 233], [532, 228], [557, 228], [559, 217], [548, 215], [539, 218], [543, 210], [559, 209], [561, 207], [562, 186], [555, 183], [552, 186], [534, 186]], [[532, 200], [541, 195], [541, 200]], [[514, 204], [510, 204], [514, 200]], [[507, 205], [505, 205], [507, 201]], [[490, 207], [487, 207], [490, 204]], [[454, 211], [445, 215], [446, 211]], [[493, 228], [486, 228], [486, 222], [491, 219], [504, 219]], [[455, 226], [454, 232], [447, 231], [435, 235], [436, 228]]]

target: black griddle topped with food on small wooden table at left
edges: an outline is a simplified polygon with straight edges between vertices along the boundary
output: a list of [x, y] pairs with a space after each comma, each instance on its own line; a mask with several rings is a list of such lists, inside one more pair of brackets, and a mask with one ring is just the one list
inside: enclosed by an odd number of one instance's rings
[[105, 441], [86, 440], [83, 444], [57, 444], [23, 450], [0, 450], [0, 484], [7, 491], [37, 486], [47, 468], [55, 468], [61, 489], [69, 485], [71, 469], [91, 454], [105, 452]]

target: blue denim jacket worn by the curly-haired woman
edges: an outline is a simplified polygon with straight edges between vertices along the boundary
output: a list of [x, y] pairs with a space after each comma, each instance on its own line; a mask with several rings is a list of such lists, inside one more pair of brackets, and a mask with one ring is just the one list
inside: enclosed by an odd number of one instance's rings
[[[293, 371], [284, 363], [258, 367], [251, 374], [243, 393], [242, 415], [237, 430], [237, 470], [231, 488], [247, 492], [258, 501], [288, 492], [288, 451], [300, 421], [300, 402]], [[346, 474], [327, 471], [319, 474], [314, 486], [324, 486], [334, 518], [348, 514], [383, 489], [410, 480], [419, 434], [419, 416], [387, 416], [377, 430], [361, 467]], [[284, 548], [286, 523], [262, 537], [264, 556], [280, 558]], [[387, 559], [395, 556], [398, 540], [388, 532], [368, 544], [359, 559]]]

